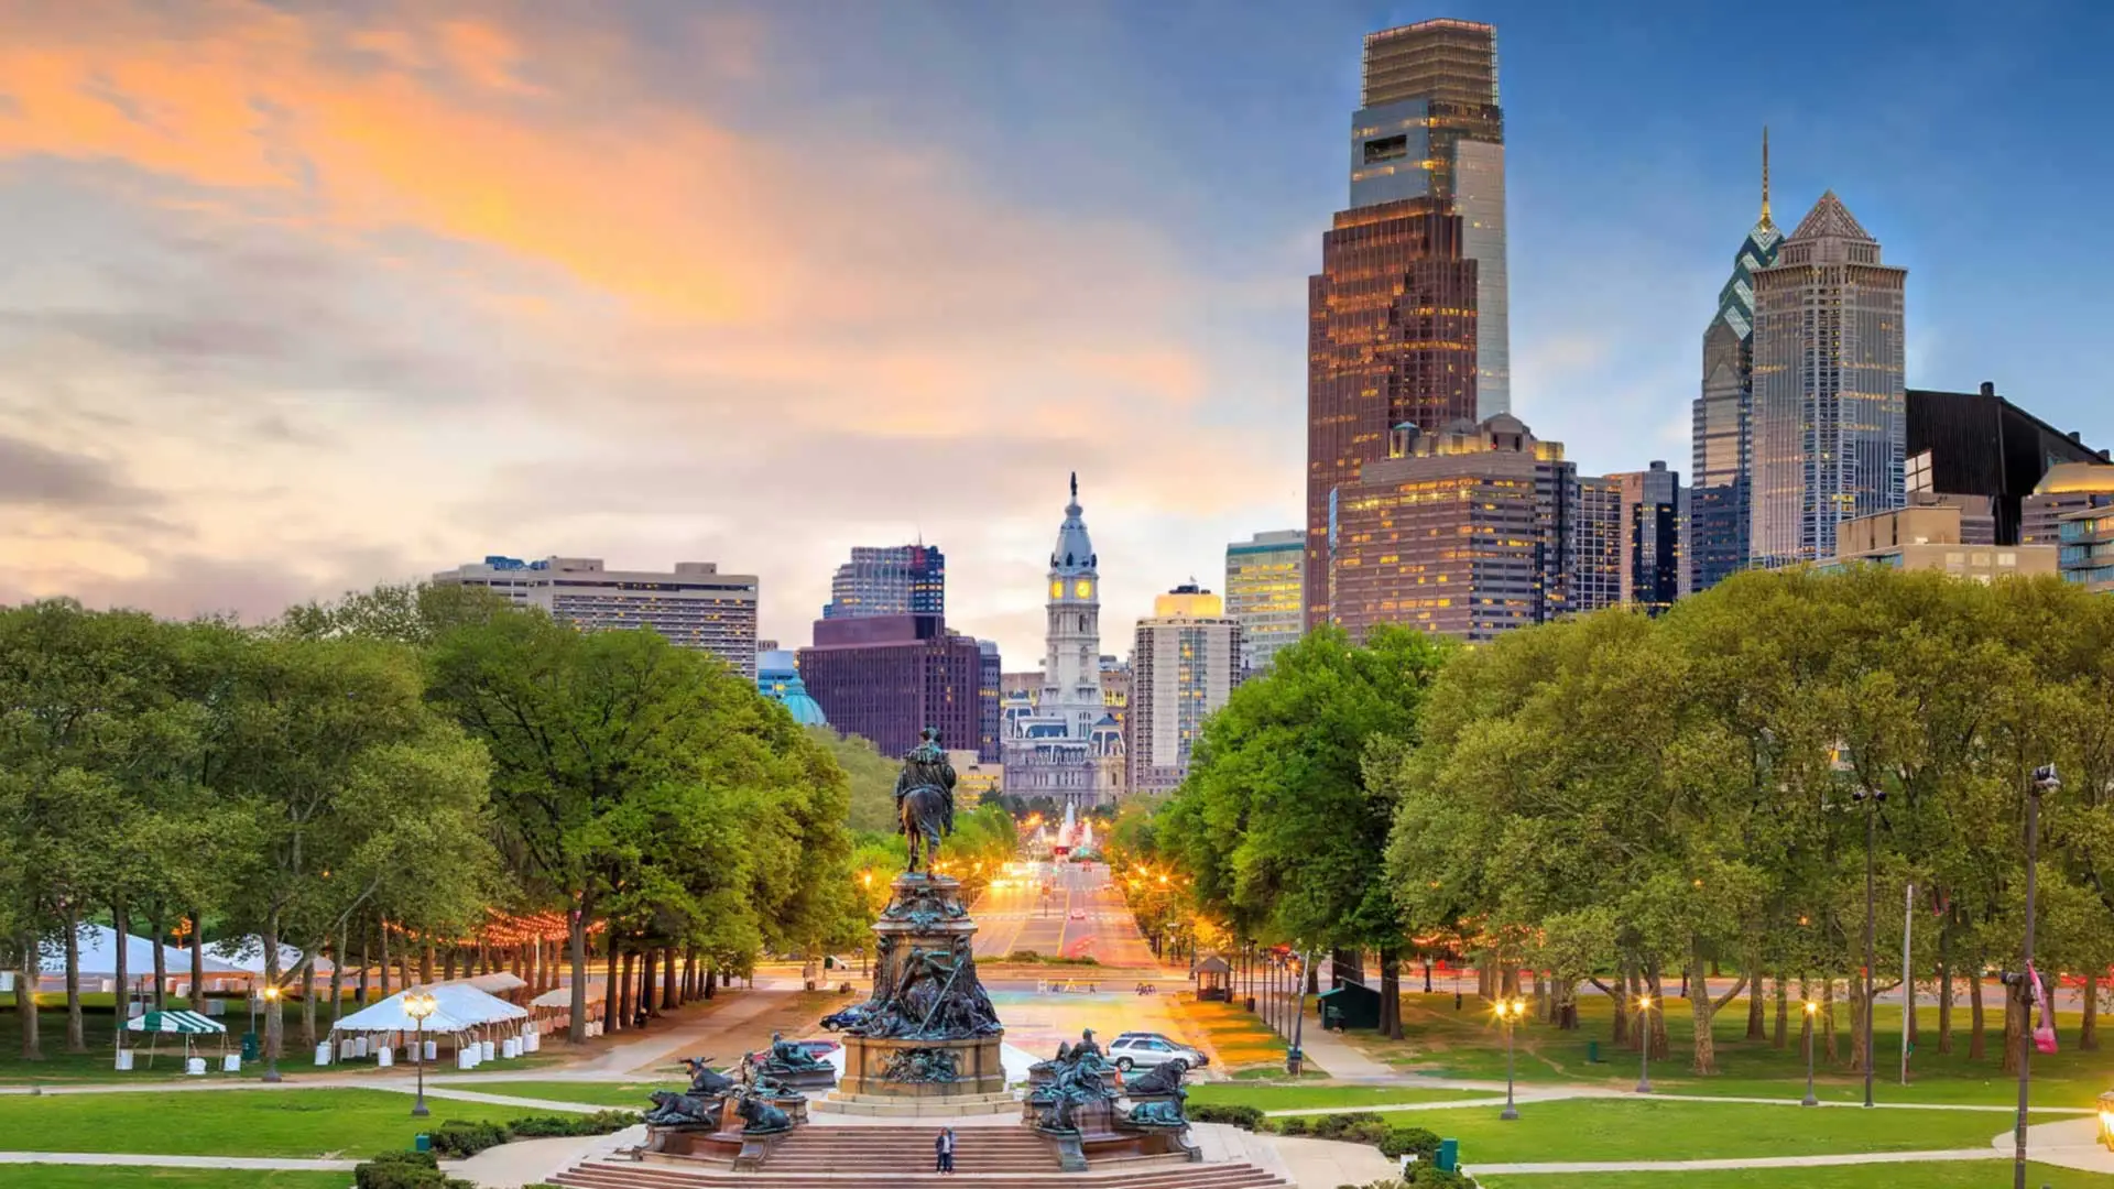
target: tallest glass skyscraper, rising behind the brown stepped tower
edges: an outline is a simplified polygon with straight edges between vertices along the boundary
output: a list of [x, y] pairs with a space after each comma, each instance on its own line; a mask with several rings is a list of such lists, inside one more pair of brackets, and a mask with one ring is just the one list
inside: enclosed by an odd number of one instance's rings
[[1476, 260], [1476, 419], [1512, 413], [1497, 30], [1418, 21], [1366, 34], [1361, 104], [1351, 205], [1433, 197], [1461, 216], [1463, 254]]

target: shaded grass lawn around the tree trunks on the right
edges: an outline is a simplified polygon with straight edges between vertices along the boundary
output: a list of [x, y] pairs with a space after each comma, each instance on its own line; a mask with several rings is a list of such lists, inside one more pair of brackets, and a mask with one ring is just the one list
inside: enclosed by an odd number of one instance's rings
[[[1666, 1032], [1672, 1051], [1651, 1062], [1651, 1083], [1655, 1087], [1666, 1094], [1731, 1094], [1793, 1100], [1805, 1094], [1805, 1054], [1799, 1047], [1797, 1020], [1791, 1022], [1786, 1045], [1776, 1049], [1767, 1041], [1746, 1039], [1746, 1001], [1733, 1001], [1712, 1020], [1710, 1028], [1719, 1073], [1714, 1077], [1695, 1077], [1689, 1073], [1693, 1026], [1687, 1001], [1674, 999], [1670, 1007]], [[1624, 1090], [1636, 1085], [1636, 1054], [1617, 1049], [1609, 1041], [1611, 1011], [1613, 1005], [1607, 999], [1586, 996], [1579, 1001], [1579, 1028], [1573, 1032], [1545, 1024], [1522, 1024], [1516, 1035], [1518, 1081], [1583, 1081]], [[1769, 1003], [1769, 1024], [1774, 1026], [1774, 1003]], [[1505, 1035], [1490, 1018], [1488, 1007], [1476, 996], [1463, 999], [1457, 1011], [1452, 994], [1404, 994], [1402, 1018], [1402, 1041], [1385, 1041], [1374, 1032], [1349, 1032], [1347, 1039], [1402, 1073], [1505, 1079]], [[1955, 1051], [1939, 1051], [1936, 1022], [1939, 1009], [1934, 1005], [1917, 1011], [1922, 1037], [1909, 1062], [1911, 1081], [1909, 1085], [1900, 1085], [1900, 1009], [1879, 1005], [1873, 1028], [1879, 1049], [1875, 1098], [1879, 1102], [2015, 1102], [2017, 1081], [1998, 1066], [2002, 1011], [1991, 1009], [1987, 1016], [1989, 1056], [1979, 1062], [1970, 1062], [1966, 1056], [1966, 1005], [1953, 1011]], [[2053, 1058], [2036, 1054], [2034, 1104], [2091, 1109], [2099, 1092], [2114, 1087], [2114, 1056], [2108, 1049], [2082, 1051], [2076, 1045], [2074, 1013], [2061, 1016], [2057, 1024], [2063, 1049]], [[1592, 1041], [1600, 1045], [1600, 1064], [1588, 1062], [1588, 1045]], [[1848, 1005], [1837, 1005], [1837, 1043], [1841, 1058], [1848, 1060]], [[2108, 1043], [2114, 1045], [2114, 1037]], [[1835, 1102], [1862, 1100], [1862, 1075], [1843, 1068], [1841, 1062], [1831, 1066], [1824, 1045], [1818, 1051], [1818, 1066], [1816, 1094], [1820, 1098]]]

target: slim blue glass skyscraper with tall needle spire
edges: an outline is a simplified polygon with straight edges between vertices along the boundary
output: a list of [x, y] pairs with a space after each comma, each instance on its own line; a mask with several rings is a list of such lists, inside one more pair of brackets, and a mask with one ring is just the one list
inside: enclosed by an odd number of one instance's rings
[[1761, 218], [1731, 258], [1719, 309], [1704, 330], [1704, 389], [1695, 398], [1689, 482], [1691, 590], [1708, 590], [1746, 565], [1746, 499], [1755, 398], [1755, 273], [1776, 264], [1784, 233], [1769, 218], [1769, 129], [1761, 129]]

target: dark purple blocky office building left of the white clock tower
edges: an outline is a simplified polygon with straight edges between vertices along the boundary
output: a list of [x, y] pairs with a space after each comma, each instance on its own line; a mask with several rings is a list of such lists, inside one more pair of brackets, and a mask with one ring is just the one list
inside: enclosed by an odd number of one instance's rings
[[939, 728], [941, 747], [975, 751], [981, 734], [983, 650], [939, 616], [816, 620], [799, 675], [829, 726], [886, 755]]

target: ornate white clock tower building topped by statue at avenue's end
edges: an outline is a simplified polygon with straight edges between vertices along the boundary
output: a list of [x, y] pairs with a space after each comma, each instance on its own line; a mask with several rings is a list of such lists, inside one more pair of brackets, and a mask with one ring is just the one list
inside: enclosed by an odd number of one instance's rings
[[1044, 575], [1042, 685], [1032, 707], [1006, 696], [1000, 762], [1008, 798], [1051, 798], [1084, 810], [1116, 800], [1123, 734], [1101, 698], [1101, 559], [1082, 514], [1074, 474]]

